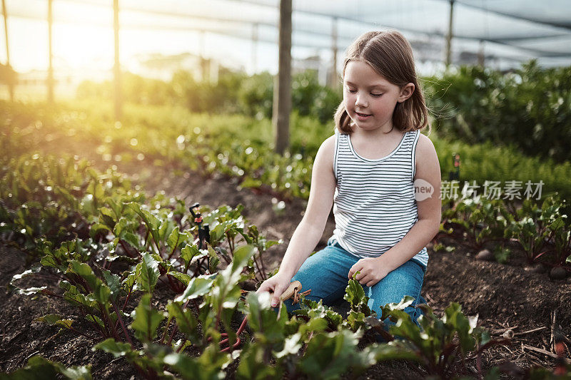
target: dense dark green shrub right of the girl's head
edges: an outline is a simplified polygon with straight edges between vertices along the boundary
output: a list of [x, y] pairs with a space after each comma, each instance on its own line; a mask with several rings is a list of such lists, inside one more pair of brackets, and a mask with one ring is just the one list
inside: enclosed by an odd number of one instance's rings
[[510, 144], [556, 162], [571, 159], [571, 67], [540, 68], [530, 61], [505, 74], [473, 66], [427, 79], [443, 136]]

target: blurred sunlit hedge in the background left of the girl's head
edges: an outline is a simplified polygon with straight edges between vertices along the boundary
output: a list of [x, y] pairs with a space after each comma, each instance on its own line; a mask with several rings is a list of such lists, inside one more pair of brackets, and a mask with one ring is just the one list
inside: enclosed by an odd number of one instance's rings
[[[122, 76], [123, 99], [128, 103], [152, 106], [183, 106], [198, 113], [241, 113], [261, 120], [271, 118], [273, 76], [268, 72], [247, 76], [221, 69], [218, 81], [197, 81], [188, 71], [177, 71], [170, 82], [148, 79], [133, 73]], [[343, 95], [340, 86], [321, 86], [315, 71], [292, 77], [292, 106], [299, 115], [313, 115], [321, 123], [333, 120]], [[81, 100], [113, 99], [113, 82], [84, 81], [77, 88]]]

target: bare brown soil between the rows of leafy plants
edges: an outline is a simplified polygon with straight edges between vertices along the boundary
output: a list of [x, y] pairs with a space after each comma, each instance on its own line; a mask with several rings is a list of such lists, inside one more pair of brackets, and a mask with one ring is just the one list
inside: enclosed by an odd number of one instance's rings
[[[238, 179], [213, 176], [203, 178], [196, 173], [172, 175], [164, 168], [148, 167], [141, 171], [125, 166], [120, 170], [129, 173], [133, 180], [141, 183], [149, 193], [163, 190], [166, 195], [176, 196], [201, 205], [244, 205], [243, 214], [258, 227], [261, 234], [283, 244], [268, 250], [264, 263], [267, 271], [275, 269], [288, 245], [288, 240], [297, 227], [306, 202], [285, 200], [285, 207], [279, 209], [278, 199], [266, 191], [239, 188]], [[333, 218], [330, 217], [323, 238], [316, 249], [325, 245], [333, 232]], [[461, 237], [440, 237], [445, 246], [454, 247], [452, 252], [434, 252], [429, 247], [430, 260], [423, 285], [423, 296], [436, 314], [442, 314], [450, 302], [458, 302], [463, 312], [478, 316], [478, 325], [500, 337], [507, 329], [515, 332], [512, 342], [486, 351], [482, 366], [512, 362], [522, 368], [540, 365], [552, 368], [555, 359], [535, 349], [552, 352], [553, 334], [571, 337], [571, 278], [552, 280], [546, 272], [525, 265], [525, 258], [517, 247], [507, 264], [475, 260], [478, 250], [470, 247]], [[70, 315], [81, 326], [81, 317], [65, 302], [59, 299], [39, 297], [31, 299], [10, 292], [6, 286], [11, 276], [26, 269], [25, 252], [12, 242], [0, 245], [0, 310], [1, 343], [0, 372], [14, 371], [26, 364], [36, 354], [47, 359], [61, 361], [66, 365], [91, 364], [94, 379], [138, 379], [138, 374], [124, 359], [115, 359], [111, 354], [92, 351], [94, 341], [69, 330], [59, 331], [34, 319], [45, 314]], [[153, 299], [163, 303], [172, 297], [166, 287], [157, 286]], [[343, 305], [340, 306], [343, 311]], [[236, 324], [236, 328], [238, 325]], [[571, 345], [570, 345], [571, 346]], [[571, 348], [571, 347], [570, 347]], [[567, 356], [570, 353], [567, 352]], [[470, 361], [469, 366], [475, 366]], [[231, 364], [226, 370], [233, 379]], [[475, 371], [475, 369], [474, 369]], [[391, 361], [370, 367], [358, 379], [422, 379], [424, 373], [418, 366], [402, 361]], [[345, 374], [345, 379], [355, 379]]]

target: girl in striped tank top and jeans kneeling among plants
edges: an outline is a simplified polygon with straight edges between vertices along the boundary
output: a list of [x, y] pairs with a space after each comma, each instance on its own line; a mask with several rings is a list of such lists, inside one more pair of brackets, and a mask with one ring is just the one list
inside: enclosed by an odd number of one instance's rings
[[[308, 299], [333, 304], [358, 272], [370, 309], [380, 315], [381, 306], [410, 295], [415, 302], [405, 312], [418, 324], [425, 245], [438, 232], [441, 208], [438, 156], [420, 134], [427, 125], [410, 43], [398, 31], [360, 36], [347, 51], [335, 135], [315, 157], [303, 220], [278, 273], [257, 291], [273, 292], [273, 307], [295, 280], [311, 289]], [[310, 256], [332, 205], [333, 236]], [[284, 304], [288, 312], [300, 308]]]

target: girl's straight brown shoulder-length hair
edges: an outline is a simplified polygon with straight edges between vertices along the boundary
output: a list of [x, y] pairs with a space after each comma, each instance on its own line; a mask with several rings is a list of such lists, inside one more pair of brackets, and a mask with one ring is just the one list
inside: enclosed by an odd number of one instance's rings
[[[405, 36], [398, 31], [369, 31], [355, 40], [347, 49], [343, 63], [345, 68], [351, 61], [368, 63], [380, 76], [402, 88], [407, 83], [415, 85], [413, 95], [397, 103], [393, 112], [393, 127], [403, 132], [423, 129], [428, 125], [428, 108], [422, 88], [416, 77], [413, 48]], [[340, 133], [351, 133], [351, 119], [345, 109], [345, 101], [335, 112], [335, 127]], [[428, 125], [430, 132], [430, 125]]]

